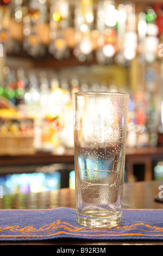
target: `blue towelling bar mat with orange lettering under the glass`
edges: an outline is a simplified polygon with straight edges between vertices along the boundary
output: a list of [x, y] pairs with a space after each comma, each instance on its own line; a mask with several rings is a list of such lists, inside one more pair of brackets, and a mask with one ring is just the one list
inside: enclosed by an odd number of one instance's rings
[[163, 210], [123, 209], [122, 224], [89, 228], [75, 221], [71, 208], [0, 210], [0, 241], [47, 239], [163, 240]]

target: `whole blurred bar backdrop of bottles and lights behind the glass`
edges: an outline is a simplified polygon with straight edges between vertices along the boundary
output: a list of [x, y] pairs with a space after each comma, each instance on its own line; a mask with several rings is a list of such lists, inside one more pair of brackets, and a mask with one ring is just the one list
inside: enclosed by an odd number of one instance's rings
[[124, 180], [163, 180], [162, 10], [154, 0], [0, 0], [5, 193], [74, 188], [77, 91], [129, 93]]

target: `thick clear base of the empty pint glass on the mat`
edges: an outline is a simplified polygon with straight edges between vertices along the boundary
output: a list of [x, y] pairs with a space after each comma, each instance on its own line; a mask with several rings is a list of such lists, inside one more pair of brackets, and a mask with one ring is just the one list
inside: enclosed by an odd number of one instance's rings
[[88, 216], [76, 216], [76, 222], [80, 225], [84, 225], [87, 227], [94, 228], [108, 228], [108, 227], [116, 227], [120, 225], [122, 222], [122, 216], [110, 216], [109, 218], [101, 217], [88, 217]]

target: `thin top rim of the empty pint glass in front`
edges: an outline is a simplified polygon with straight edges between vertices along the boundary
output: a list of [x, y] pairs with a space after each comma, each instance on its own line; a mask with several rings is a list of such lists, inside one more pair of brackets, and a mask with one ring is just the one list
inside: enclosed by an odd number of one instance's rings
[[75, 96], [109, 96], [109, 95], [119, 95], [119, 96], [129, 96], [129, 93], [119, 93], [119, 92], [76, 92], [72, 93]]

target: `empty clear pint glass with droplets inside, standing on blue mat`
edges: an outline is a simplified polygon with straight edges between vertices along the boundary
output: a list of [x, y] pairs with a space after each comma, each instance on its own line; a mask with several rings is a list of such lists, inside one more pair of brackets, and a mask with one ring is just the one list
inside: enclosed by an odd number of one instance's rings
[[127, 93], [73, 94], [76, 221], [112, 227], [122, 221]]

